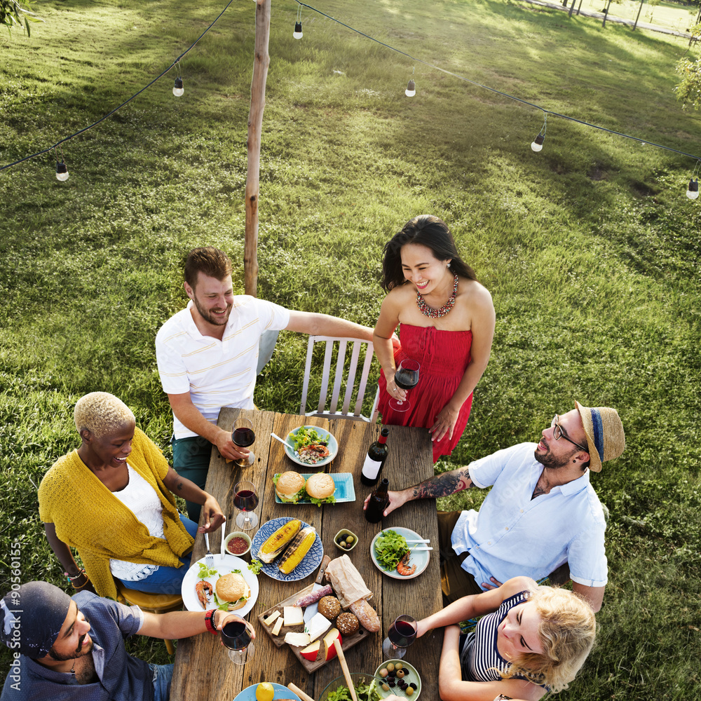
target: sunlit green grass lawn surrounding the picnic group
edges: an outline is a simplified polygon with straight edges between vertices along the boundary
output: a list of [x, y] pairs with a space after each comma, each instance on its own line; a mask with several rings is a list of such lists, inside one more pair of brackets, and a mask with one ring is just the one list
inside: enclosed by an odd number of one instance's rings
[[[0, 163], [100, 118], [223, 5], [41, 3], [32, 39], [0, 35]], [[546, 109], [700, 152], [699, 114], [672, 90], [684, 39], [496, 0], [318, 7]], [[418, 213], [443, 217], [497, 311], [491, 362], [445, 467], [533, 440], [574, 399], [617, 407], [626, 428], [625, 454], [592, 477], [611, 510], [599, 646], [562, 697], [699, 697], [701, 210], [684, 196], [694, 162], [554, 117], [533, 154], [539, 111], [421, 63], [408, 100], [409, 59], [308, 10], [294, 41], [295, 14], [273, 3], [259, 296], [372, 325], [383, 244]], [[64, 584], [32, 482], [75, 447], [81, 395], [115, 393], [167, 446], [154, 336], [184, 304], [183, 255], [224, 248], [243, 291], [253, 22], [252, 3], [233, 4], [182, 62], [182, 98], [169, 75], [64, 144], [67, 182], [53, 156], [0, 173], [3, 573], [19, 540], [25, 580]], [[280, 336], [260, 407], [298, 411], [305, 348]], [[160, 643], [130, 645], [165, 662]], [[7, 659], [0, 651], [2, 669]]]

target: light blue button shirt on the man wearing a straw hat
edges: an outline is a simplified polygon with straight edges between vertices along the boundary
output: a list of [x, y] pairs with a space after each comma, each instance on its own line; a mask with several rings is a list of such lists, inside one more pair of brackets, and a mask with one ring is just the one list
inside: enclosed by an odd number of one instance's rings
[[521, 443], [470, 463], [475, 486], [492, 487], [479, 512], [461, 513], [451, 534], [453, 550], [470, 552], [462, 567], [478, 585], [490, 577], [540, 580], [568, 562], [574, 582], [605, 586], [606, 521], [590, 471], [532, 499], [543, 472], [535, 449], [536, 443]]

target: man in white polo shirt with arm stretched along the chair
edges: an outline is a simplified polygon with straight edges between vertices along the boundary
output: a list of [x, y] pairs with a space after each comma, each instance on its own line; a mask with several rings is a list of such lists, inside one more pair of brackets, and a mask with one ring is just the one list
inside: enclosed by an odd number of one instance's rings
[[[212, 444], [225, 458], [249, 454], [217, 427], [222, 407], [253, 408], [258, 344], [267, 329], [372, 341], [372, 328], [326, 314], [291, 311], [245, 294], [233, 294], [231, 261], [207, 246], [187, 257], [184, 287], [190, 298], [156, 335], [163, 391], [173, 410], [173, 468], [204, 486]], [[200, 506], [187, 503], [198, 522]]]

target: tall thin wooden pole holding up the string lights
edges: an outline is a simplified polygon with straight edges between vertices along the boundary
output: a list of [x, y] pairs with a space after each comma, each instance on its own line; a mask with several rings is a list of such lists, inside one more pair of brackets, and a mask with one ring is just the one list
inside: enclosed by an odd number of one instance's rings
[[243, 273], [246, 294], [258, 291], [258, 198], [260, 187], [261, 129], [268, 77], [271, 0], [256, 0], [256, 43], [251, 81], [251, 109], [248, 114], [248, 174], [246, 177], [246, 229], [243, 245]]

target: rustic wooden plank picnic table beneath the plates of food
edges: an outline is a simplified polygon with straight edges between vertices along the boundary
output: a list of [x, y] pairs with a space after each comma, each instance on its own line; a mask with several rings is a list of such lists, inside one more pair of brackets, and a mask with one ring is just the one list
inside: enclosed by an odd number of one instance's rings
[[[249, 468], [239, 468], [226, 463], [218, 451], [212, 449], [206, 491], [217, 498], [226, 515], [226, 524], [219, 532], [215, 531], [210, 535], [212, 552], [219, 552], [220, 540], [231, 531], [238, 530], [238, 512], [233, 507], [233, 486], [240, 479], [250, 479], [257, 486], [260, 501], [256, 512], [260, 524], [276, 517], [297, 517], [315, 527], [322, 538], [324, 552], [332, 559], [343, 554], [334, 545], [336, 533], [342, 528], [357, 533], [358, 545], [348, 555], [365, 579], [368, 588], [374, 592], [370, 602], [377, 610], [382, 627], [379, 632], [370, 634], [368, 640], [348, 649], [346, 660], [351, 672], [373, 674], [383, 660], [382, 641], [397, 615], [409, 613], [418, 620], [442, 607], [435, 501], [426, 499], [405, 504], [377, 524], [370, 524], [365, 520], [362, 515], [362, 502], [371, 488], [360, 482], [360, 470], [369, 444], [379, 436], [379, 424], [348, 419], [329, 421], [320, 417], [276, 414], [272, 411], [222, 409], [218, 425], [231, 430], [238, 416], [245, 416], [253, 422], [256, 440], [251, 449], [256, 460]], [[285, 470], [314, 472], [315, 468], [312, 465], [302, 468], [301, 465], [293, 463], [285, 454], [283, 445], [271, 438], [271, 433], [285, 437], [290, 430], [303, 425], [325, 428], [338, 440], [338, 455], [325, 470], [330, 473], [353, 474], [354, 502], [325, 505], [321, 508], [311, 504], [275, 503], [275, 473]], [[427, 430], [392, 426], [388, 447], [389, 456], [382, 475], [389, 479], [390, 489], [403, 489], [433, 475], [432, 450]], [[392, 526], [406, 526], [417, 531], [423, 538], [430, 538], [431, 545], [435, 547], [430, 553], [428, 567], [416, 578], [395, 580], [385, 576], [370, 559], [372, 538], [382, 529]], [[251, 536], [256, 530], [249, 531]], [[193, 548], [192, 562], [204, 557], [204, 554], [204, 538], [198, 536]], [[250, 560], [250, 554], [246, 555], [245, 559]], [[229, 660], [219, 637], [202, 634], [180, 640], [175, 655], [170, 701], [191, 701], [195, 698], [232, 701], [241, 690], [261, 681], [285, 686], [294, 682], [313, 699], [318, 699], [327, 684], [343, 674], [339, 661], [331, 660], [313, 674], [308, 674], [289, 646], [275, 646], [257, 619], [257, 615], [262, 611], [311, 584], [315, 576], [316, 571], [297, 582], [283, 583], [269, 578], [263, 572], [259, 574], [259, 597], [253, 610], [245, 617], [252, 622], [256, 632], [254, 655], [246, 665], [234, 665]], [[427, 634], [407, 649], [404, 658], [414, 665], [421, 675], [421, 683], [425, 689], [423, 695], [427, 699], [437, 697], [441, 644], [442, 631]]]

